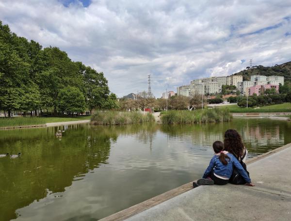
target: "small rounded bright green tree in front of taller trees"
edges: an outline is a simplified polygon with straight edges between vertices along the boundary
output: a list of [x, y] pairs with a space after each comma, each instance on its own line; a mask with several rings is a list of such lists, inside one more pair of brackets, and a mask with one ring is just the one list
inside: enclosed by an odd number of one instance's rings
[[85, 97], [77, 87], [67, 86], [61, 89], [57, 100], [58, 109], [67, 114], [81, 113], [85, 109]]

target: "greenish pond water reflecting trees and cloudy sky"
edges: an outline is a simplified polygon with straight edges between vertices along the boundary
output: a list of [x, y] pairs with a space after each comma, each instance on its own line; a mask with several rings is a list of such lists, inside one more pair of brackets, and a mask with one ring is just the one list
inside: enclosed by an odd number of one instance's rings
[[291, 123], [71, 125], [0, 131], [0, 220], [98, 220], [201, 177], [211, 145], [237, 129], [249, 157], [291, 142]]

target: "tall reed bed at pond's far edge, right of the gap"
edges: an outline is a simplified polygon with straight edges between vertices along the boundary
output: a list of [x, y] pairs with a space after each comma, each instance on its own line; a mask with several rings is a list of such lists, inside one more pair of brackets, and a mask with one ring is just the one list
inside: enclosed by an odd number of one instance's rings
[[197, 124], [231, 121], [228, 109], [204, 109], [195, 111], [167, 111], [162, 115], [163, 124]]

